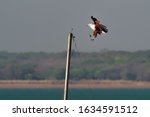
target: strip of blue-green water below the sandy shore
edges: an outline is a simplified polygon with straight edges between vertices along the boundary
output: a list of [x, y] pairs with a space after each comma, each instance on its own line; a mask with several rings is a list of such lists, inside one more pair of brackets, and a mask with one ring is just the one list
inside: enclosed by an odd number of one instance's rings
[[[150, 100], [150, 89], [69, 89], [70, 100]], [[0, 100], [62, 100], [63, 89], [0, 89]]]

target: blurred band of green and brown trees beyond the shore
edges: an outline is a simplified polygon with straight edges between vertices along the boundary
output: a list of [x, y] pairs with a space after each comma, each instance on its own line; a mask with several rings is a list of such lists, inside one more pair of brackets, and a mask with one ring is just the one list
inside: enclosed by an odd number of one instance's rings
[[[44, 80], [65, 77], [66, 52], [0, 52], [0, 80]], [[150, 81], [150, 50], [72, 52], [70, 79]]]

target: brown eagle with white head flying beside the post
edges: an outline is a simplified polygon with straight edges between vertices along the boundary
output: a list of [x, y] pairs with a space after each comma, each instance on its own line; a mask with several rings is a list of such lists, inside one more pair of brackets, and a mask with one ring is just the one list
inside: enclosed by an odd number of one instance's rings
[[[88, 26], [93, 30], [93, 37], [96, 38], [97, 34], [101, 35], [102, 33], [107, 33], [108, 29], [105, 25], [101, 24], [99, 20], [97, 20], [95, 17], [91, 16], [91, 19], [93, 20], [93, 24], [88, 24]], [[91, 36], [91, 35], [90, 35]]]

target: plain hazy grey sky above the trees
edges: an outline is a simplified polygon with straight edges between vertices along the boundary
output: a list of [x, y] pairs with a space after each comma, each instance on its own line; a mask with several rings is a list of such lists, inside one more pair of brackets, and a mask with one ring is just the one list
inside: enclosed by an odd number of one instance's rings
[[[95, 41], [91, 15], [109, 29]], [[0, 51], [64, 51], [71, 28], [79, 51], [150, 49], [150, 0], [0, 0]]]

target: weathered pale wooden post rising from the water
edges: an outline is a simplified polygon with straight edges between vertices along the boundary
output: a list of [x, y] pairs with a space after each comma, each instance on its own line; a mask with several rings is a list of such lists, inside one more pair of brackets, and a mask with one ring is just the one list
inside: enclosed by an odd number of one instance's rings
[[72, 46], [73, 34], [68, 35], [68, 48], [67, 48], [67, 59], [66, 59], [66, 74], [65, 74], [65, 87], [64, 87], [64, 100], [68, 99], [68, 84], [69, 84], [69, 73], [70, 73], [70, 60], [71, 60], [71, 46]]

